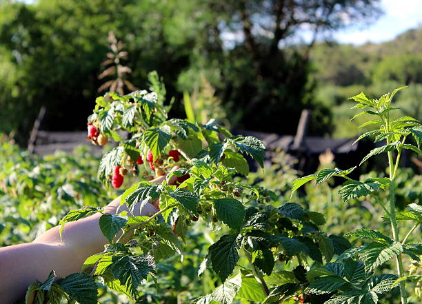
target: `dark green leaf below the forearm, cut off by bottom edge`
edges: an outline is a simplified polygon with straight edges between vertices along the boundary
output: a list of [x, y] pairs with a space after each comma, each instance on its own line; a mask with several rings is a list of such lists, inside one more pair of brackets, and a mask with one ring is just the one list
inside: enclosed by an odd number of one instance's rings
[[58, 284], [79, 303], [97, 304], [97, 284], [88, 274], [70, 274]]

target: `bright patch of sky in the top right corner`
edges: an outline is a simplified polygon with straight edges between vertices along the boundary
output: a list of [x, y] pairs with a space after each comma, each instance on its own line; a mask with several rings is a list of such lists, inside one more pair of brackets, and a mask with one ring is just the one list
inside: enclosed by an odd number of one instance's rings
[[332, 37], [341, 43], [379, 43], [394, 39], [410, 28], [422, 26], [422, 0], [381, 0], [381, 8], [383, 16], [370, 26], [341, 30]]

